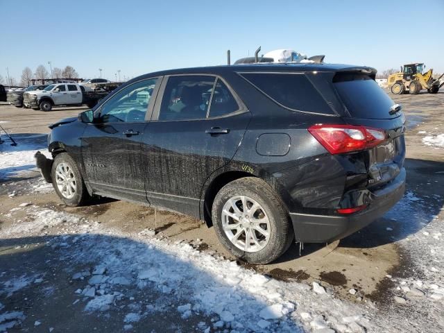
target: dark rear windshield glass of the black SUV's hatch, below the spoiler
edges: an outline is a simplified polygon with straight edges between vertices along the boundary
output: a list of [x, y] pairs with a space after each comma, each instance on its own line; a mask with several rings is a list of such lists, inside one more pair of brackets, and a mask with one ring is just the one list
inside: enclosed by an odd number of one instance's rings
[[388, 113], [395, 102], [369, 76], [336, 74], [333, 84], [353, 118], [390, 119], [399, 116]]

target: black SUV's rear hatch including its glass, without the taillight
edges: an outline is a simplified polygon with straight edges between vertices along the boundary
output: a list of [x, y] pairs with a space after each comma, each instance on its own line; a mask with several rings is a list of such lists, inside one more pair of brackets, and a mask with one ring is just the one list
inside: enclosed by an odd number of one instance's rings
[[366, 74], [336, 74], [333, 78], [345, 105], [343, 120], [354, 126], [384, 130], [386, 140], [365, 151], [368, 187], [380, 187], [400, 173], [405, 157], [405, 117], [400, 107]]

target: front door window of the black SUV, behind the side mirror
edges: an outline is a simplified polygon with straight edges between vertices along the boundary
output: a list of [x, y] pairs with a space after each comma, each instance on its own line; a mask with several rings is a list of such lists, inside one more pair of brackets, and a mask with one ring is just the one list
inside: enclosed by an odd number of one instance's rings
[[121, 89], [103, 104], [100, 112], [101, 122], [145, 121], [156, 82], [157, 78], [151, 78]]

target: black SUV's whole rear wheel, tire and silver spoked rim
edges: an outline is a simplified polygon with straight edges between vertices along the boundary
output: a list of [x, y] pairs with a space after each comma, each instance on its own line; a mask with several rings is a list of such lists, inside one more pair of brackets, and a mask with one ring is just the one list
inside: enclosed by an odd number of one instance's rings
[[[246, 211], [244, 203], [249, 207]], [[284, 203], [259, 178], [240, 178], [222, 187], [214, 198], [212, 221], [221, 244], [232, 255], [251, 264], [268, 264], [278, 259], [294, 238]]]

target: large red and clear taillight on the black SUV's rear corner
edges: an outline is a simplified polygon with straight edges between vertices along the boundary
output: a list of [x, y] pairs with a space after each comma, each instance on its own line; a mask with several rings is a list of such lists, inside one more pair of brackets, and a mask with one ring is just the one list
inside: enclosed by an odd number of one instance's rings
[[308, 131], [331, 154], [362, 151], [386, 140], [384, 130], [366, 126], [318, 124], [311, 126]]

